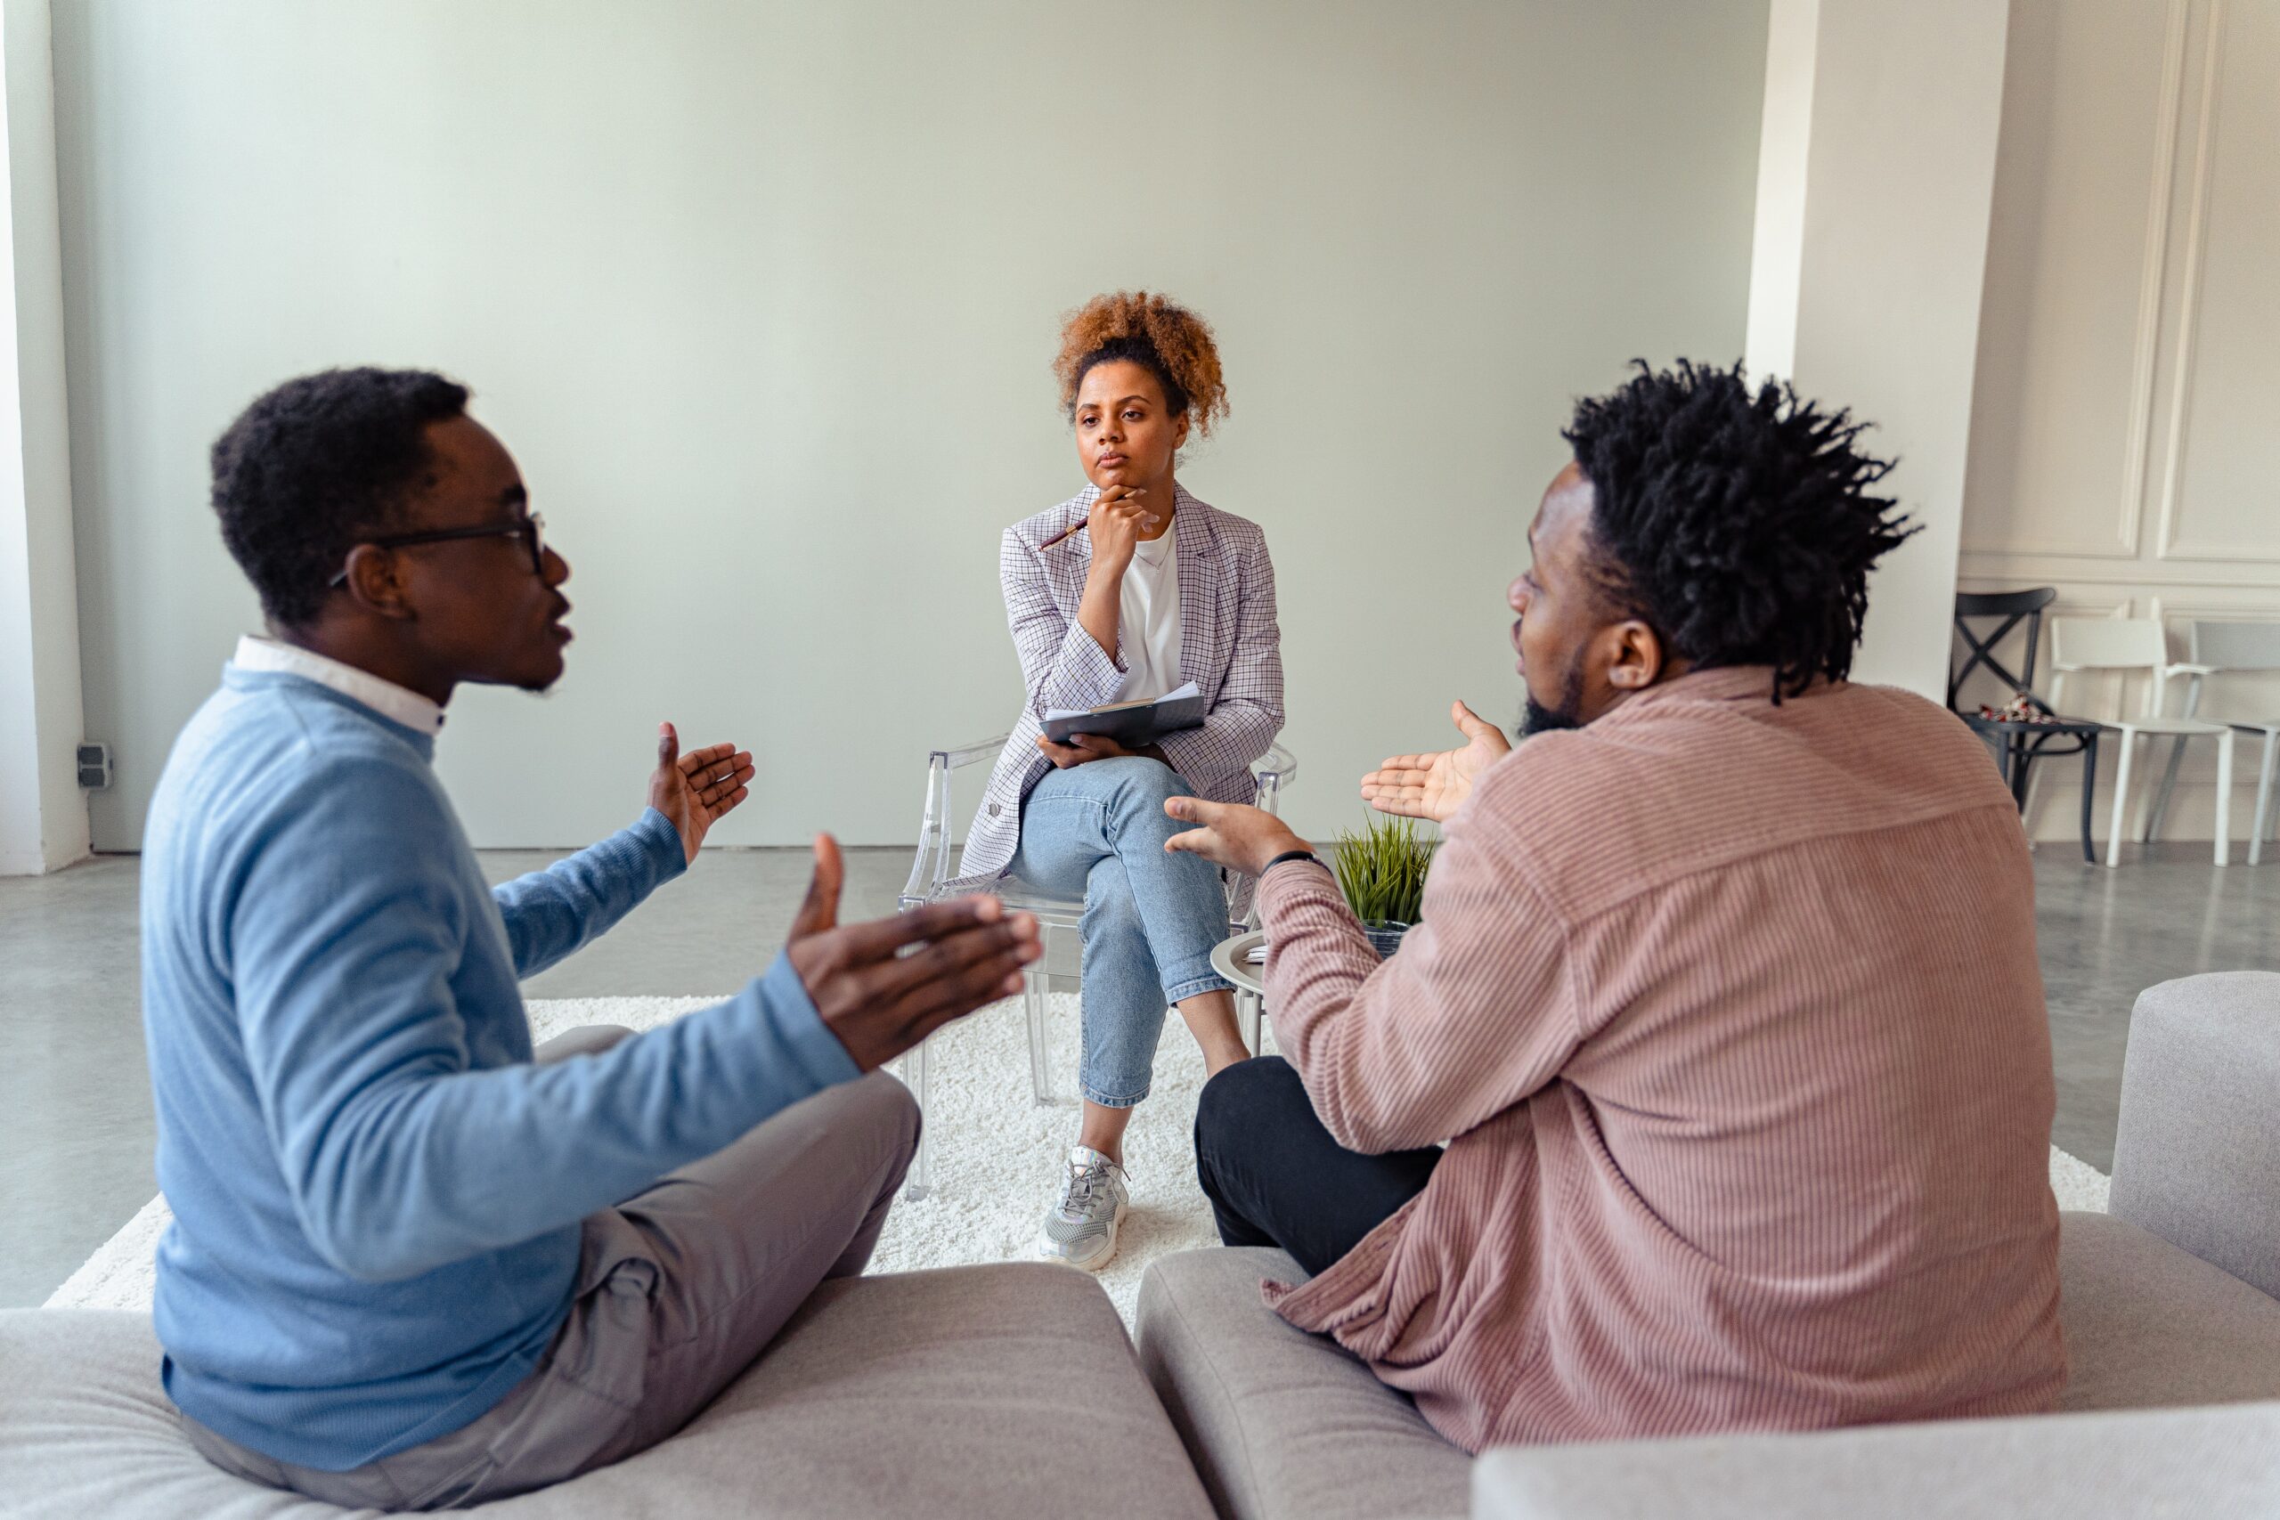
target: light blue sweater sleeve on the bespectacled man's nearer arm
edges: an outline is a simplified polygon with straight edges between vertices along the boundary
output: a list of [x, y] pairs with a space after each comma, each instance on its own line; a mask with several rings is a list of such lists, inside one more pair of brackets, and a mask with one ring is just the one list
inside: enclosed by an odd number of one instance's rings
[[239, 1035], [301, 1226], [349, 1276], [575, 1224], [857, 1076], [782, 957], [602, 1055], [472, 1069], [451, 975], [481, 902], [433, 782], [328, 761], [274, 818], [228, 912]]

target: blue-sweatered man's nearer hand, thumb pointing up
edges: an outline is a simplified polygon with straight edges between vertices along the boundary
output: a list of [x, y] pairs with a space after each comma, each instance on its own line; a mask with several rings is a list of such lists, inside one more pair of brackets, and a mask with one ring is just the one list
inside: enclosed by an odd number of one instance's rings
[[951, 1019], [1021, 991], [1021, 966], [1044, 955], [1033, 914], [996, 898], [928, 902], [894, 918], [839, 927], [846, 866], [816, 834], [816, 871], [791, 918], [784, 955], [862, 1071], [876, 1071]]

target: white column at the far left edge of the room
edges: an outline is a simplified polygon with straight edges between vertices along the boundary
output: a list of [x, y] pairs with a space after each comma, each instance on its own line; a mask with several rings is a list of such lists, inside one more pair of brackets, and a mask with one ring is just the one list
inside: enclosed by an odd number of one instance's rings
[[48, 0], [5, 0], [0, 173], [0, 875], [87, 855], [80, 595], [71, 549], [64, 262]]

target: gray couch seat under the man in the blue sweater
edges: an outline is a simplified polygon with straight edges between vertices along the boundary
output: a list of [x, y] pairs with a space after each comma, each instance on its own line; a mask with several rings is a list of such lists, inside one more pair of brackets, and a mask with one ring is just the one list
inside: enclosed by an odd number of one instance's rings
[[[210, 1468], [157, 1383], [144, 1315], [0, 1313], [0, 1495], [57, 1520], [317, 1520], [349, 1513]], [[1044, 1262], [825, 1283], [673, 1440], [499, 1520], [1049, 1515], [1206, 1520], [1179, 1436], [1092, 1278]]]

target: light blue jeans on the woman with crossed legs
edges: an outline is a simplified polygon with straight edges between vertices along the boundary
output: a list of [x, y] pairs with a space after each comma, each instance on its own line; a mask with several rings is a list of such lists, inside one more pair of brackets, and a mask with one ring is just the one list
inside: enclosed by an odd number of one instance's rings
[[1220, 868], [1163, 848], [1188, 827], [1165, 816], [1165, 798], [1190, 795], [1176, 770], [1133, 754], [1049, 770], [1021, 804], [1012, 875], [1085, 900], [1078, 1085], [1101, 1108], [1147, 1096], [1172, 1003], [1227, 989], [1211, 969], [1227, 939]]

